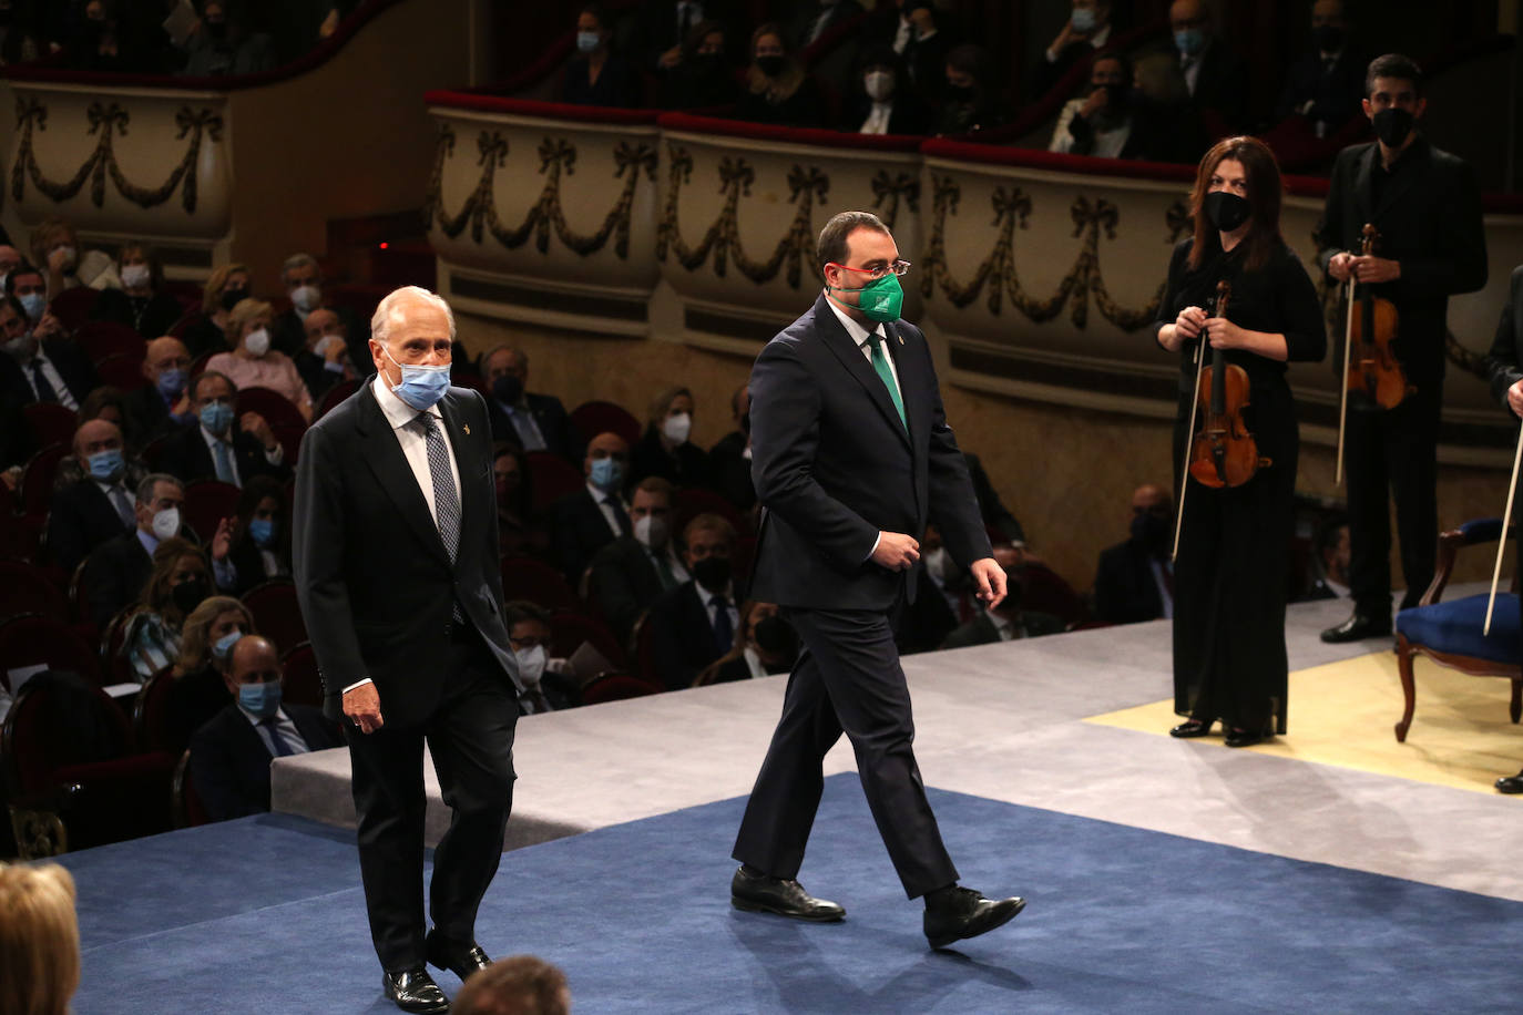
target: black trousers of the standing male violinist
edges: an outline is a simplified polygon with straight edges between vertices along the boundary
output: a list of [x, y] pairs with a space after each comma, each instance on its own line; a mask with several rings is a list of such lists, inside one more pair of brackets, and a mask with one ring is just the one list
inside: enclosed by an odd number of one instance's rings
[[[1365, 616], [1390, 616], [1390, 498], [1397, 502], [1400, 609], [1418, 604], [1438, 563], [1438, 423], [1442, 380], [1422, 385], [1394, 409], [1349, 406], [1343, 467], [1348, 469], [1349, 589]], [[1389, 496], [1387, 496], [1389, 490]]]

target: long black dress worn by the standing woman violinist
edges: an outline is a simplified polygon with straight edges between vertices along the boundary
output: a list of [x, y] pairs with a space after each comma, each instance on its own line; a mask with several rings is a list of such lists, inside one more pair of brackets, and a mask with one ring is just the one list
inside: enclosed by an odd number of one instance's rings
[[[1211, 312], [1217, 282], [1231, 286], [1228, 320], [1252, 332], [1285, 336], [1290, 361], [1327, 353], [1322, 306], [1295, 253], [1278, 243], [1263, 268], [1247, 271], [1247, 243], [1223, 254], [1212, 248], [1191, 271], [1193, 240], [1174, 248], [1168, 291], [1154, 335], [1188, 306]], [[1180, 350], [1180, 397], [1174, 423], [1174, 467], [1185, 453], [1194, 397], [1196, 342]], [[1206, 356], [1211, 347], [1206, 345]], [[1240, 487], [1211, 488], [1194, 479], [1185, 492], [1183, 530], [1174, 562], [1174, 711], [1223, 727], [1285, 732], [1285, 586], [1293, 531], [1299, 435], [1285, 364], [1244, 350], [1226, 362], [1249, 377], [1244, 422], [1270, 466]], [[1179, 475], [1176, 473], [1176, 485]]]

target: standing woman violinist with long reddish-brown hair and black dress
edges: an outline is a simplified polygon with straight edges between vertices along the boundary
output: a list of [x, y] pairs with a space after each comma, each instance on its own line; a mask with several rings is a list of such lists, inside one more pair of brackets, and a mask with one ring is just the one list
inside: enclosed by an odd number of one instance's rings
[[[1231, 137], [1200, 161], [1194, 236], [1174, 248], [1157, 344], [1180, 358], [1174, 466], [1183, 466], [1197, 345], [1249, 377], [1243, 415], [1270, 460], [1237, 487], [1188, 481], [1174, 562], [1174, 737], [1221, 721], [1228, 747], [1285, 732], [1285, 586], [1296, 490], [1295, 403], [1285, 364], [1327, 353], [1311, 278], [1279, 234], [1279, 166], [1263, 142]], [[1231, 286], [1215, 315], [1217, 283]], [[1206, 406], [1202, 406], [1202, 412]], [[1199, 420], [1199, 417], [1197, 417]], [[1176, 476], [1176, 490], [1179, 488]]]

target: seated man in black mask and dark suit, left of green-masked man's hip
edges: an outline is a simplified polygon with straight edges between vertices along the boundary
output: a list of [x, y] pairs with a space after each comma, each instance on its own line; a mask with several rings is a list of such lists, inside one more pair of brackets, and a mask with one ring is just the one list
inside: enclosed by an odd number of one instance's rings
[[717, 514], [699, 514], [682, 530], [682, 563], [693, 578], [663, 592], [646, 618], [656, 676], [669, 689], [693, 686], [704, 667], [736, 647], [734, 546], [736, 530]]

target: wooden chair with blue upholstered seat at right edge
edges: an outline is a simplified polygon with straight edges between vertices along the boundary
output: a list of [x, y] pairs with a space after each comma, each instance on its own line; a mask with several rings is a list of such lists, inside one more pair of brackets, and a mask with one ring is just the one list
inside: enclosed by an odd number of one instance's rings
[[1512, 682], [1509, 714], [1518, 721], [1523, 712], [1523, 635], [1518, 632], [1517, 592], [1499, 592], [1491, 615], [1491, 635], [1482, 635], [1486, 618], [1486, 595], [1441, 603], [1444, 586], [1454, 572], [1454, 557], [1461, 546], [1494, 543], [1502, 536], [1502, 519], [1482, 517], [1465, 522], [1438, 537], [1438, 571], [1433, 584], [1410, 610], [1397, 613], [1397, 663], [1406, 712], [1397, 723], [1397, 740], [1406, 741], [1412, 726], [1416, 688], [1412, 682], [1412, 657], [1418, 653], [1435, 662], [1468, 673], [1473, 677], [1505, 677]]

